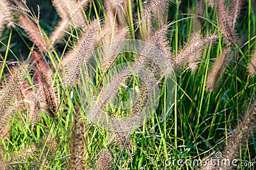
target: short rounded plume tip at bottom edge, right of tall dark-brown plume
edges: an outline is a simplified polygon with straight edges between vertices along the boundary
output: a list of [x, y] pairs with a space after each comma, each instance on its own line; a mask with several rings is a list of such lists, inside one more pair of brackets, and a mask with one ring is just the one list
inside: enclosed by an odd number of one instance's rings
[[113, 156], [108, 149], [104, 149], [96, 162], [96, 167], [99, 170], [110, 170], [113, 167]]

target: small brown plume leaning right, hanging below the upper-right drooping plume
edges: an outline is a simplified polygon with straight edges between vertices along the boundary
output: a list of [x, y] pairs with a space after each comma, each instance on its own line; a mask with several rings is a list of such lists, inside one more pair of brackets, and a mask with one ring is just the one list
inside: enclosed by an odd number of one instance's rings
[[221, 55], [215, 60], [214, 64], [211, 67], [211, 71], [207, 76], [206, 81], [206, 90], [212, 92], [218, 82], [220, 81], [221, 74], [225, 70], [227, 64], [227, 57], [230, 54], [230, 48], [226, 48], [222, 51]]

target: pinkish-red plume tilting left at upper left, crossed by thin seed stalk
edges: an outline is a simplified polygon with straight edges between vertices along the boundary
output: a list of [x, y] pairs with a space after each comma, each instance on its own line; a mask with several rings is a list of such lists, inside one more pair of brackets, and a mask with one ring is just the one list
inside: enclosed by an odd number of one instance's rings
[[51, 46], [48, 41], [45, 41], [44, 34], [38, 29], [38, 25], [24, 15], [19, 16], [19, 26], [28, 34], [42, 52], [47, 52]]

